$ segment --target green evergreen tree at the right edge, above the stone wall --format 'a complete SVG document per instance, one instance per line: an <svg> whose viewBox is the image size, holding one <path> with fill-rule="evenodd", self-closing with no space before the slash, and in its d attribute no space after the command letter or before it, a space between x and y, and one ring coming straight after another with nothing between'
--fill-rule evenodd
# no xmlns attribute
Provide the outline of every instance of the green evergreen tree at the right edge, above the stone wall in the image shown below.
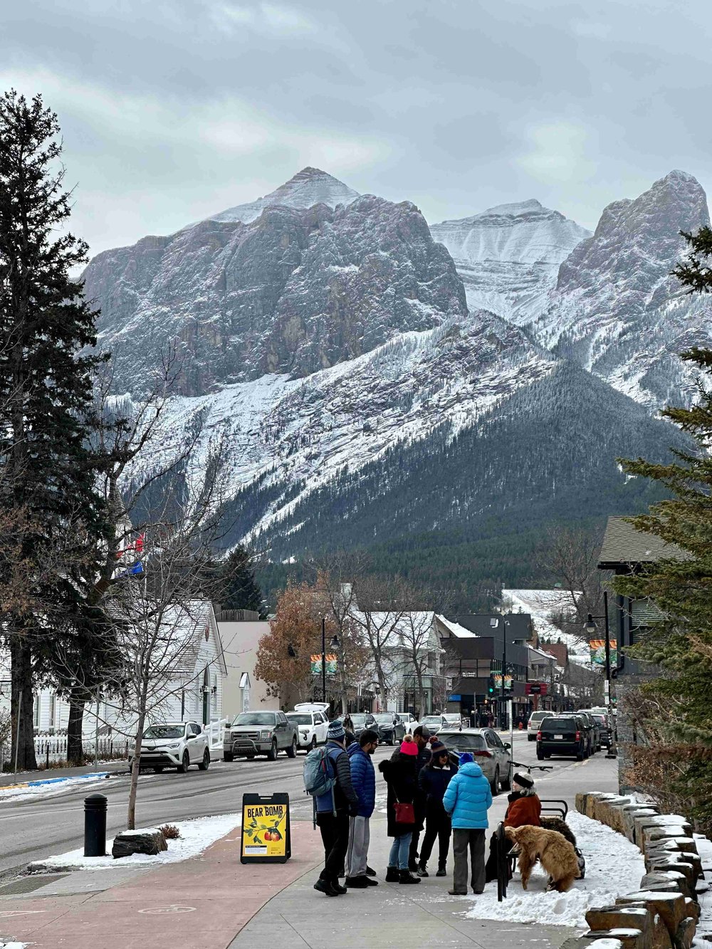
<svg viewBox="0 0 712 949"><path fill-rule="evenodd" d="M692 254L675 272L690 292L708 292L712 270L702 258L712 254L712 231L703 228L684 236ZM701 373L712 370L712 349L693 347L682 358ZM662 413L695 439L697 452L675 450L669 464L643 458L623 463L629 474L651 478L671 495L652 505L649 513L630 518L631 523L681 552L640 573L616 578L614 586L624 596L649 597L663 614L634 650L637 658L657 662L665 671L642 688L642 707L652 710L649 736L659 738L649 751L658 765L669 760L671 767L661 772L667 790L672 786L687 813L710 828L712 805L706 788L712 778L712 390L702 375L697 395L689 408ZM674 714L669 711L673 709ZM666 717L662 710L668 710ZM646 762L641 764L645 770Z"/></svg>

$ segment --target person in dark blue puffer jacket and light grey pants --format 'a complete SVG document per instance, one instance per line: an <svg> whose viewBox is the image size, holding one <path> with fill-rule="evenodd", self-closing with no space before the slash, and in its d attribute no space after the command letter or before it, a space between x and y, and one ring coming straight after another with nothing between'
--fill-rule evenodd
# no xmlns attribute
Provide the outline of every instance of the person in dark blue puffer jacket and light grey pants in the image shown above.
<svg viewBox="0 0 712 949"><path fill-rule="evenodd" d="M351 784L359 798L358 809L349 819L347 850L347 886L353 889L365 889L377 886L371 880L373 871L368 867L368 822L376 805L376 772L371 755L378 748L378 734L370 728L364 729L358 742L352 742L348 748L351 766Z"/></svg>

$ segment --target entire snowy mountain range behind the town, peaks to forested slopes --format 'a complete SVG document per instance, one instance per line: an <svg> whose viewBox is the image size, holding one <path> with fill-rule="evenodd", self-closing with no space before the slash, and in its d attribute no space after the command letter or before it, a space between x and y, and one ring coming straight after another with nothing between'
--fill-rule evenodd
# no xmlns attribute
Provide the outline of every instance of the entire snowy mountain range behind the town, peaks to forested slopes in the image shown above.
<svg viewBox="0 0 712 949"><path fill-rule="evenodd" d="M643 363L647 338L600 341L658 320L672 346L694 333L695 307L702 322L666 277L676 232L706 214L693 182L673 173L618 202L592 236L536 201L431 233L413 204L305 169L250 205L99 254L84 279L116 392L141 396L169 341L182 360L143 473L200 419L198 462L225 436L228 539L287 560L640 508L646 485L615 458L682 441L619 391L646 402L615 373L621 354ZM654 363L668 389L682 372L671 352Z"/></svg>

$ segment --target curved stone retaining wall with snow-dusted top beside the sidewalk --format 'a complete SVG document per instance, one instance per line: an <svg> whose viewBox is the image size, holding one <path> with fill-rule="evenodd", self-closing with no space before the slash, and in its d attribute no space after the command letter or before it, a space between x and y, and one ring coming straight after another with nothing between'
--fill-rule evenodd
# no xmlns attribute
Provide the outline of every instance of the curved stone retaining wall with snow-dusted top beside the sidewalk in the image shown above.
<svg viewBox="0 0 712 949"><path fill-rule="evenodd" d="M703 869L687 820L598 791L576 794L576 810L640 847L646 874L635 893L611 906L591 907L586 914L590 932L566 940L561 949L691 949Z"/></svg>

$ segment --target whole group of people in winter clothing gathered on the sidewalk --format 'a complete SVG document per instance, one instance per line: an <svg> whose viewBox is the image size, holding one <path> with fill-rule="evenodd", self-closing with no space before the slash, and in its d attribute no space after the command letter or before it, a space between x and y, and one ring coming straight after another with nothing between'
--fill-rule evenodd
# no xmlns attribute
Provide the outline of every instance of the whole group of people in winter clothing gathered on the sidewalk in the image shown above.
<svg viewBox="0 0 712 949"><path fill-rule="evenodd" d="M367 861L369 820L376 800L372 755L377 747L378 735L370 729L356 740L341 721L329 726L327 757L335 784L332 791L315 799L325 863L314 889L326 896L339 896L348 888L378 885L373 879L376 871ZM413 735L405 735L390 758L381 761L379 771L387 785L386 828L392 838L386 883L420 884L429 876L427 865L436 841L435 875L446 876L452 837L455 869L448 892L452 896L467 895L469 870L472 891L481 893L486 882L485 831L492 791L473 755L451 753L420 725ZM535 800L519 805L518 813L516 802L525 797ZM505 824L516 827L534 823L529 819L532 817L538 824L534 813L537 803L532 779L516 774ZM341 877L346 877L344 886Z"/></svg>

